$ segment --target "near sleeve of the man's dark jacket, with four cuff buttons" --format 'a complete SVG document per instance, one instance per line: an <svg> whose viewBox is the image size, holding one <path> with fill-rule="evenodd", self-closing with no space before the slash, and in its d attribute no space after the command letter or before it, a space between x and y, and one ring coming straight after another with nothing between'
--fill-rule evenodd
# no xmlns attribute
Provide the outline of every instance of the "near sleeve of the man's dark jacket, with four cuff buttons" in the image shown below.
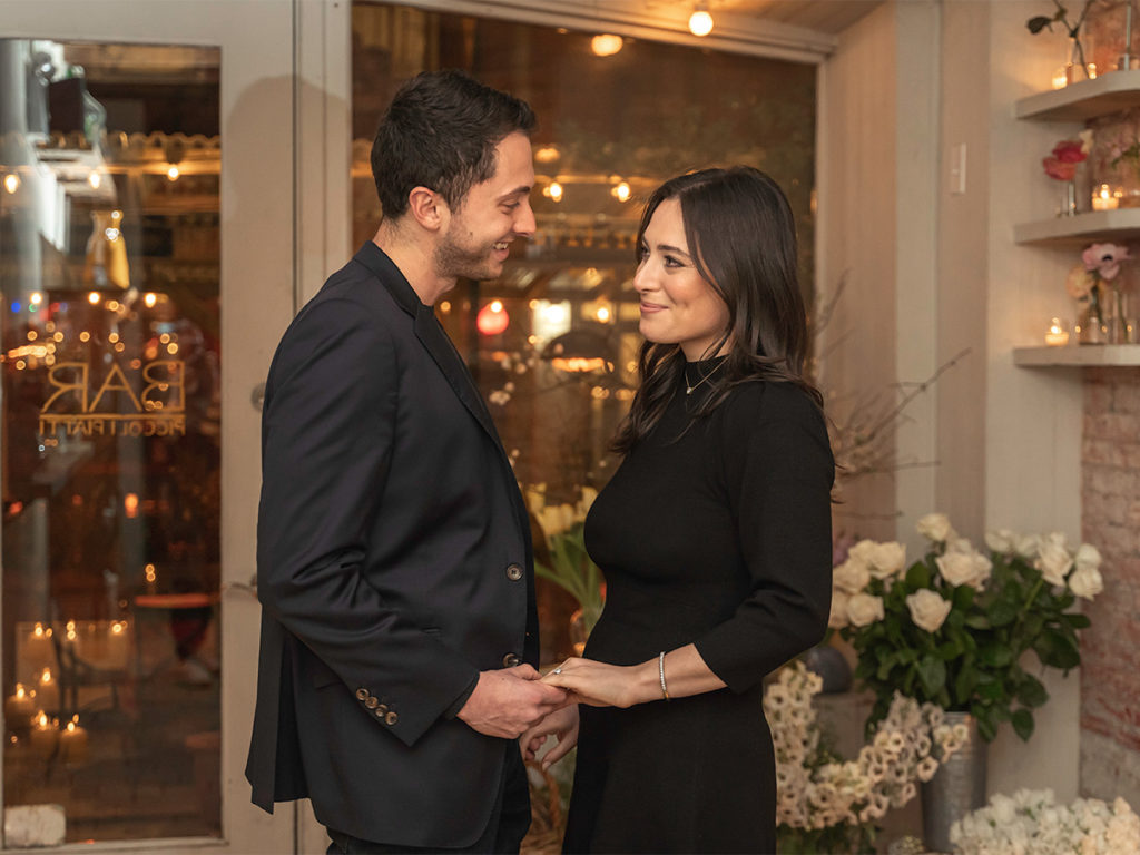
<svg viewBox="0 0 1140 855"><path fill-rule="evenodd" d="M389 331L352 301L310 304L286 333L263 414L258 595L359 700L398 710L374 720L413 744L478 669L361 572L383 513L399 370Z"/></svg>

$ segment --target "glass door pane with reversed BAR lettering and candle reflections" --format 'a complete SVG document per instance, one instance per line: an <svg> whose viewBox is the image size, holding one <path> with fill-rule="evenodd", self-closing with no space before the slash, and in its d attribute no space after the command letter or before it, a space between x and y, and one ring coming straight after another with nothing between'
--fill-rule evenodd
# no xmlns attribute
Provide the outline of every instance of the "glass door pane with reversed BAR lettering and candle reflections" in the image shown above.
<svg viewBox="0 0 1140 855"><path fill-rule="evenodd" d="M8 848L220 834L220 60L0 40Z"/></svg>

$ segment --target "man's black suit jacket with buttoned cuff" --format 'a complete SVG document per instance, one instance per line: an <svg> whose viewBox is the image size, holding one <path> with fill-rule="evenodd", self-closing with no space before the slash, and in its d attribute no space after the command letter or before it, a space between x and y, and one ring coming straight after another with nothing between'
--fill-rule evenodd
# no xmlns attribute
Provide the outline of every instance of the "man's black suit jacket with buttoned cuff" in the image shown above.
<svg viewBox="0 0 1140 855"><path fill-rule="evenodd" d="M367 243L269 369L262 603L246 776L353 837L462 847L506 742L447 716L480 670L537 665L530 527L466 367Z"/></svg>

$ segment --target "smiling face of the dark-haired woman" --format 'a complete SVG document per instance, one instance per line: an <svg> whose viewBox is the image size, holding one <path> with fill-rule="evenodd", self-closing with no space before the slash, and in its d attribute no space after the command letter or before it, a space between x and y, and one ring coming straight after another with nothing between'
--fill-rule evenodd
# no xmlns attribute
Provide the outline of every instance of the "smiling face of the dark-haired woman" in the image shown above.
<svg viewBox="0 0 1140 855"><path fill-rule="evenodd" d="M693 264L679 199L657 206L642 241L634 276L641 334L658 344L679 344L690 361L727 352L728 342L718 353L708 352L728 326L728 307Z"/></svg>

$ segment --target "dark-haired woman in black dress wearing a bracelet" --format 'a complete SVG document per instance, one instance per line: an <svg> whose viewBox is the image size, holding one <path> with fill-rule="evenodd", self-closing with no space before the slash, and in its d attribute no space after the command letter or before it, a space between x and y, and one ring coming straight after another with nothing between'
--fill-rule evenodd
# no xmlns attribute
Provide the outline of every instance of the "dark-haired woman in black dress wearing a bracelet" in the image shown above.
<svg viewBox="0 0 1140 855"><path fill-rule="evenodd" d="M638 234L641 388L586 520L606 604L544 679L581 705L524 734L578 763L564 850L771 853L763 678L817 643L833 462L791 210L755 169L667 181Z"/></svg>

